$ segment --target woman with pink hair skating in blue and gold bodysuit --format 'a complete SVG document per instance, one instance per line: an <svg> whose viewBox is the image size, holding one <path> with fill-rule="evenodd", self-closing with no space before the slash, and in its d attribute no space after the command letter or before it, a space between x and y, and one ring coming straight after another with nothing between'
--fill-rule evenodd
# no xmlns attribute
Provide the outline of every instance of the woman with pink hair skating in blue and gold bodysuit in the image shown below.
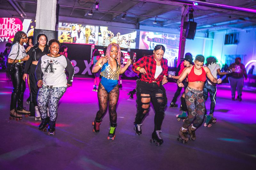
<svg viewBox="0 0 256 170"><path fill-rule="evenodd" d="M114 140L116 132L116 104L119 98L119 74L124 73L124 71L132 62L131 59L128 59L127 64L123 68L121 68L120 58L120 46L116 43L110 43L107 48L106 56L100 58L97 63L92 67L93 73L96 73L98 70L101 69L101 81L98 88L98 100L100 110L97 112L94 122L92 122L92 125L94 125L93 131L100 131L100 123L108 107L110 119L108 139L112 140Z"/></svg>

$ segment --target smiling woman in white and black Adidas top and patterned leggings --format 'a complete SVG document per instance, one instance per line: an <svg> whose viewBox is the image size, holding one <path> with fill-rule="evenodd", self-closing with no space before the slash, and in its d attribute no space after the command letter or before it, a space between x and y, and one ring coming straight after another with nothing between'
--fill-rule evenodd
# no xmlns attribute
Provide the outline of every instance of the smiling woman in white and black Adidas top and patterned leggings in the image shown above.
<svg viewBox="0 0 256 170"><path fill-rule="evenodd" d="M74 67L67 57L59 54L60 42L58 40L50 40L48 46L50 53L43 55L36 66L37 86L40 88L37 105L42 118L38 129L44 129L49 123L48 135L55 135L58 104L67 87L73 83ZM65 70L69 74L68 80ZM47 114L47 107L49 107L50 117Z"/></svg>

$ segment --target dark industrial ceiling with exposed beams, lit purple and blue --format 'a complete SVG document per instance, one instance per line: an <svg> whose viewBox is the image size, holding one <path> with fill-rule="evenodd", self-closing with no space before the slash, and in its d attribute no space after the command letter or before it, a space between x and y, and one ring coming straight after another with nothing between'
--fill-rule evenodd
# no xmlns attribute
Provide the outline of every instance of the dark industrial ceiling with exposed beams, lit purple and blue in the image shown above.
<svg viewBox="0 0 256 170"><path fill-rule="evenodd" d="M256 9L254 0L201 0L236 7ZM16 0L27 17L36 16L36 0ZM99 2L99 10L95 3ZM162 3L165 4L162 4ZM134 25L158 26L178 29L182 3L167 0L59 0L60 16L111 21ZM166 4L167 3L167 4ZM197 31L218 29L252 29L256 25L256 14L219 8L193 6ZM92 9L93 15L88 15ZM6 0L0 0L0 10L9 15L19 14ZM125 14L125 16L124 16ZM123 19L122 19L123 18ZM124 19L125 18L125 19ZM156 20L156 24L153 22Z"/></svg>

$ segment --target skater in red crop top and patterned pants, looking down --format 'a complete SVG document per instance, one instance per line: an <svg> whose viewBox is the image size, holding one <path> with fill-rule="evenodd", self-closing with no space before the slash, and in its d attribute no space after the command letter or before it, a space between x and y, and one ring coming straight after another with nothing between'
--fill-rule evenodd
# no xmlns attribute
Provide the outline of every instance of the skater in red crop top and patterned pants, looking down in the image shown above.
<svg viewBox="0 0 256 170"><path fill-rule="evenodd" d="M196 140L196 128L204 120L205 114L205 103L203 88L204 82L206 81L206 76L213 83L221 83L222 80L216 79L212 76L212 73L208 67L204 67L204 56L197 55L195 59L195 64L193 66L187 67L179 80L177 85L179 87L184 87L182 81L188 76L188 87L185 90L185 100L188 109L188 118L185 119L183 126L179 130L179 139L184 143L188 142L189 138L187 133L189 132L192 140Z"/></svg>

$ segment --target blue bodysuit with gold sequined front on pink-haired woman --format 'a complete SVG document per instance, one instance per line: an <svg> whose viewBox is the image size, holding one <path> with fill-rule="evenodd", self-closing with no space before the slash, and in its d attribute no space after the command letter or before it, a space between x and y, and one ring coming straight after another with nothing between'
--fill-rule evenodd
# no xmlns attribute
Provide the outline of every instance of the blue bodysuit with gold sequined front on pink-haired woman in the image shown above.
<svg viewBox="0 0 256 170"><path fill-rule="evenodd" d="M116 71L113 71L110 65L105 63L101 68L101 81L100 83L104 86L106 91L109 93L118 84L120 66L116 61Z"/></svg>

